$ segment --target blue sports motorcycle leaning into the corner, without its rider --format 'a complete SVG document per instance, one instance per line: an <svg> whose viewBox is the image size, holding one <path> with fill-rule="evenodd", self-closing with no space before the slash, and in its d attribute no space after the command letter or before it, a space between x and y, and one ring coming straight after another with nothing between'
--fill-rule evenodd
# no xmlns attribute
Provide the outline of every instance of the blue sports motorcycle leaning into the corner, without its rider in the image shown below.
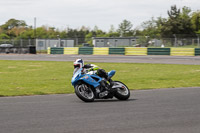
<svg viewBox="0 0 200 133"><path fill-rule="evenodd" d="M114 70L108 72L108 78L115 75ZM112 80L111 80L112 81ZM120 81L112 81L112 85L96 74L83 73L82 68L75 68L71 80L75 94L84 102L93 102L94 99L108 99L116 97L127 100L130 97L128 87Z"/></svg>

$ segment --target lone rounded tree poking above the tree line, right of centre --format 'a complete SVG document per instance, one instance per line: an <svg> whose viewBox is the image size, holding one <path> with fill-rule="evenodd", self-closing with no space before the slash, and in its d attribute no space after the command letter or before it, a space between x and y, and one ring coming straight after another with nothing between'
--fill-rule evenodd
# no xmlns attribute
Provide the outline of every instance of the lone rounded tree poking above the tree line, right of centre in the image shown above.
<svg viewBox="0 0 200 133"><path fill-rule="evenodd" d="M122 23L119 24L118 32L121 36L132 36L132 27L133 24L128 20L123 20Z"/></svg>

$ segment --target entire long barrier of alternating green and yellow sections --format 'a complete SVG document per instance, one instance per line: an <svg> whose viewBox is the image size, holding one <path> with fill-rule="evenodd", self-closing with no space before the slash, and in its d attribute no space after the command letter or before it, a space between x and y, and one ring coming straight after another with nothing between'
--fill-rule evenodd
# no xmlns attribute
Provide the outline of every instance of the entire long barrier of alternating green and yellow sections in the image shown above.
<svg viewBox="0 0 200 133"><path fill-rule="evenodd" d="M48 54L200 56L200 48L146 48L146 47L125 47L125 48L65 47L65 48L55 48L55 47L52 47L52 48L48 48Z"/></svg>

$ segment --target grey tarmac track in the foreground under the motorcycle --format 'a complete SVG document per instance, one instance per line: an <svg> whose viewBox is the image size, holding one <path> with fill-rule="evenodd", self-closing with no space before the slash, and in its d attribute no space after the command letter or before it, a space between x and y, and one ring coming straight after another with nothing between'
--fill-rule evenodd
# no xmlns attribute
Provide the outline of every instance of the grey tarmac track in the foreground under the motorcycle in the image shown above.
<svg viewBox="0 0 200 133"><path fill-rule="evenodd" d="M1 133L199 133L200 88L132 91L84 103L74 94L0 98Z"/></svg>

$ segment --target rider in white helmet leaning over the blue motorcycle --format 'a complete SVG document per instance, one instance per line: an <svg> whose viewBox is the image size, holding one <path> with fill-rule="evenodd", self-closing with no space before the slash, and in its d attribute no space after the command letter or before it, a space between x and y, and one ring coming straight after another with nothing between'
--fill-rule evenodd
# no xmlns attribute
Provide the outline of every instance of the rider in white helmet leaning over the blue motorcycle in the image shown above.
<svg viewBox="0 0 200 133"><path fill-rule="evenodd" d="M83 72L87 74L97 74L98 76L106 79L106 81L110 82L110 87L112 86L111 79L108 78L108 73L104 69L100 69L97 65L94 64L86 64L84 65L84 61L82 59L76 59L74 62L74 68L83 68ZM100 82L102 86L105 87L104 82ZM102 89L100 89L102 90Z"/></svg>

